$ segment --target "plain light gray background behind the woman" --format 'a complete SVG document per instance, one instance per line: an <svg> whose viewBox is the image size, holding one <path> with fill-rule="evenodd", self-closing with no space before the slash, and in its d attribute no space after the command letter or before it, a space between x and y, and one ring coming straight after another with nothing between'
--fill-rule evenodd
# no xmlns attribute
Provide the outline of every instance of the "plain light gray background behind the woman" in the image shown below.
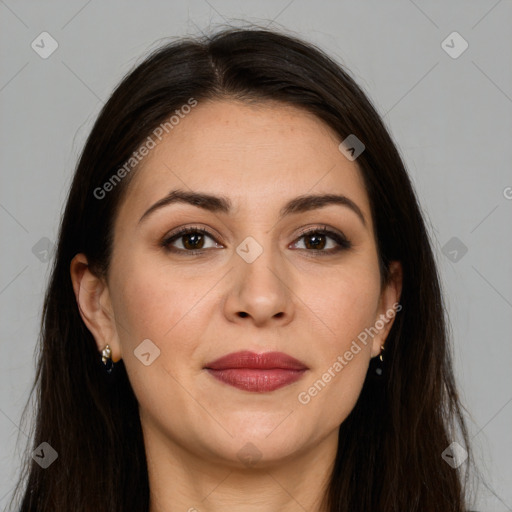
<svg viewBox="0 0 512 512"><path fill-rule="evenodd" d="M325 49L384 116L439 261L456 377L488 482L475 508L512 510L510 0L0 0L0 509L18 473L17 438L26 440L20 415L48 278L44 250L99 109L164 38L244 22L284 27ZM31 47L43 31L59 45L47 59ZM453 31L469 44L457 58L442 46Z"/></svg>

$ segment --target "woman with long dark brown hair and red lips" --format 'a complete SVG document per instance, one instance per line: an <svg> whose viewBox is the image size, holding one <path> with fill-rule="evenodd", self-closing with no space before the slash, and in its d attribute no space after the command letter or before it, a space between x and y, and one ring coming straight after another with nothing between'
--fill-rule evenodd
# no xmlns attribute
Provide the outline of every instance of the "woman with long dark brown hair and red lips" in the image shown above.
<svg viewBox="0 0 512 512"><path fill-rule="evenodd" d="M173 42L116 88L71 186L36 385L21 511L466 510L404 164L347 72L277 32Z"/></svg>

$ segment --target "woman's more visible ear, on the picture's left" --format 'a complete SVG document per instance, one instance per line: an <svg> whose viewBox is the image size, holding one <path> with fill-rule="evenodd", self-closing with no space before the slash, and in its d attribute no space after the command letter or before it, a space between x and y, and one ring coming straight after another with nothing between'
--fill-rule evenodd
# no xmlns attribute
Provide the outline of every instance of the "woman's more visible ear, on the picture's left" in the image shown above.
<svg viewBox="0 0 512 512"><path fill-rule="evenodd" d="M94 336L98 351L110 345L112 360L121 358L110 293L104 279L93 274L84 254L77 254L70 264L71 281L80 316Z"/></svg>

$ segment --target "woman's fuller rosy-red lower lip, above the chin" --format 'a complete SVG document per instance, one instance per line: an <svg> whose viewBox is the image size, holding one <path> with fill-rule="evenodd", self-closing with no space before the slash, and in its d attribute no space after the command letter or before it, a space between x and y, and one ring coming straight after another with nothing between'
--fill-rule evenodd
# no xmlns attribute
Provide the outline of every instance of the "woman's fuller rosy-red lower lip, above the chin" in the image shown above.
<svg viewBox="0 0 512 512"><path fill-rule="evenodd" d="M265 393L288 386L298 381L306 370L270 370L231 368L226 370L207 369L216 379L243 391Z"/></svg>

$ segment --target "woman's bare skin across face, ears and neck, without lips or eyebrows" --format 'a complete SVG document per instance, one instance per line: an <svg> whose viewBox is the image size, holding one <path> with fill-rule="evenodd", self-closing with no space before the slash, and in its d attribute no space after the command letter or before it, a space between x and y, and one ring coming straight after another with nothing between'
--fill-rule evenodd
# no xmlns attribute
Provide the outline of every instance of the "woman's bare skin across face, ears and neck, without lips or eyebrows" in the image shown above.
<svg viewBox="0 0 512 512"><path fill-rule="evenodd" d="M321 510L339 426L393 319L309 403L298 395L392 310L402 287L401 266L392 262L381 288L369 199L357 160L345 158L340 142L294 107L199 103L133 176L115 221L108 277L95 276L85 255L73 259L82 318L100 352L108 343L113 360L123 358L139 401L151 512ZM176 203L139 223L178 188L227 196L233 211ZM278 220L288 200L325 193L349 197L366 226L339 204ZM319 246L301 230L324 225L352 246L322 256L338 247L327 235L315 257ZM172 242L179 254L159 245L186 226L211 233L202 254L184 252L186 236ZM248 236L263 249L252 263L236 252ZM145 339L160 350L148 366L134 355ZM285 352L309 369L267 393L241 391L204 369L238 350ZM259 457L254 464L238 457L247 443Z"/></svg>

